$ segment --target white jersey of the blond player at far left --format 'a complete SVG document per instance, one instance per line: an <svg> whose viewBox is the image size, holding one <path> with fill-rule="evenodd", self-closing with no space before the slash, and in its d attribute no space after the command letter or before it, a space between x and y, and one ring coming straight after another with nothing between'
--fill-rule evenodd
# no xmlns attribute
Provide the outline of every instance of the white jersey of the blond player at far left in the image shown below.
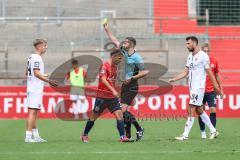
<svg viewBox="0 0 240 160"><path fill-rule="evenodd" d="M34 70L39 69L44 74L44 64L42 57L38 54L31 54L27 62L27 92L43 92L44 82L34 75Z"/></svg>

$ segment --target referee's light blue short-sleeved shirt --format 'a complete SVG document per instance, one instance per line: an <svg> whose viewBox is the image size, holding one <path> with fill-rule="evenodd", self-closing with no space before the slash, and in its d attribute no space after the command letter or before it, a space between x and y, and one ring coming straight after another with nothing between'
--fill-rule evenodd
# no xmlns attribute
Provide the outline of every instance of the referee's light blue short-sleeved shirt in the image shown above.
<svg viewBox="0 0 240 160"><path fill-rule="evenodd" d="M125 59L125 79L130 79L134 75L137 75L139 71L144 70L144 63L142 57L138 53L129 55L127 51L124 51Z"/></svg>

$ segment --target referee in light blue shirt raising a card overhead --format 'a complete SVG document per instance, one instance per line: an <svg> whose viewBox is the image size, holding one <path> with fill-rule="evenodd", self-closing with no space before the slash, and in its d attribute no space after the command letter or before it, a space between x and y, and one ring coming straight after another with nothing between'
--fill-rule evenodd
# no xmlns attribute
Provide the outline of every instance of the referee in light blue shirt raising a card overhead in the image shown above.
<svg viewBox="0 0 240 160"><path fill-rule="evenodd" d="M145 70L142 57L135 51L135 38L126 37L123 45L120 46L120 42L109 30L107 23L104 24L104 29L109 39L116 44L118 48L123 47L125 59L125 81L122 84L121 104L124 116L125 131L126 136L131 138L131 124L133 124L137 130L136 141L139 141L143 137L144 129L139 125L135 116L128 111L128 106L133 104L133 100L138 93L138 79L145 77L149 71Z"/></svg>

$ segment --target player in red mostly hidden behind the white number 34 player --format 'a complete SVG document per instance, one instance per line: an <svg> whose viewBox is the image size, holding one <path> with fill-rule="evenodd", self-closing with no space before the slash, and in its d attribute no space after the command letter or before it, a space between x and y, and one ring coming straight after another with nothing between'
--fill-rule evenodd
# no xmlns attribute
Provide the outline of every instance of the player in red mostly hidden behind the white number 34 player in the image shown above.
<svg viewBox="0 0 240 160"><path fill-rule="evenodd" d="M219 85L221 93L223 93L222 81L221 81L220 74L219 74L218 61L210 55L209 45L207 43L202 46L202 50L209 55L210 66L211 66L213 75L216 78L216 81ZM204 105L203 108L205 108L205 105L207 103L209 106L209 109L210 109L210 120L214 127L216 127L216 122L217 122L216 121L216 102L217 102L217 98L216 98L216 93L214 91L213 84L212 84L209 76L207 76L205 94L204 94L204 98L203 98L203 105ZM201 118L198 119L198 122L199 122L199 126L201 129L201 136L203 139L205 139L205 138L207 138L206 131L205 131L205 124L202 122Z"/></svg>

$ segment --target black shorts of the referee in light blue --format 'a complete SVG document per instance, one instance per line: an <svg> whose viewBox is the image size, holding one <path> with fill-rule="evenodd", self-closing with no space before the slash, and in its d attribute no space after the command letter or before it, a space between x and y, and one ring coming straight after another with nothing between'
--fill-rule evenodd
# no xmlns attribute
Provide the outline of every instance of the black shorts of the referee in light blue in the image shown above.
<svg viewBox="0 0 240 160"><path fill-rule="evenodd" d="M122 84L121 103L133 105L134 98L138 94L138 82L132 80L129 84Z"/></svg>

